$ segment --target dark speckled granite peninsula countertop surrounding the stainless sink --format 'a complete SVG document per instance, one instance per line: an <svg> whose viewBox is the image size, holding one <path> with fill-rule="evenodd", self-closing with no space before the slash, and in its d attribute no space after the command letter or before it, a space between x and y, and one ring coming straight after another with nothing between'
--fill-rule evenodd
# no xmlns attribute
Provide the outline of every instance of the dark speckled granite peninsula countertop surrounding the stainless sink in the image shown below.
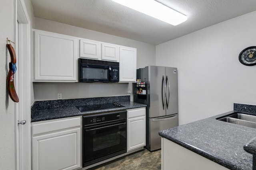
<svg viewBox="0 0 256 170"><path fill-rule="evenodd" d="M256 137L256 129L216 119L233 112L256 115L256 106L234 104L234 111L166 129L159 135L228 169L252 170L252 154L243 147ZM256 150L256 145L250 145L250 150Z"/></svg>

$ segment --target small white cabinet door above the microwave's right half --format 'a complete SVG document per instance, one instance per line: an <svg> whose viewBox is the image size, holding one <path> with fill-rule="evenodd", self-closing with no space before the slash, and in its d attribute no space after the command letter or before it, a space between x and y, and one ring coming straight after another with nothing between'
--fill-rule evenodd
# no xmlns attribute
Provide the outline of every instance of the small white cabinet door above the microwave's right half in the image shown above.
<svg viewBox="0 0 256 170"><path fill-rule="evenodd" d="M102 60L119 62L118 45L102 43L101 47Z"/></svg>

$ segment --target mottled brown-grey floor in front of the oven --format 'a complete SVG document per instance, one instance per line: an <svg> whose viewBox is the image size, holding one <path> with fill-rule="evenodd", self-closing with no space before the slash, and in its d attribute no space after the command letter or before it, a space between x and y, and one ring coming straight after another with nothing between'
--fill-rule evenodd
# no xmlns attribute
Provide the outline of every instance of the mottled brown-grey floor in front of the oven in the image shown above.
<svg viewBox="0 0 256 170"><path fill-rule="evenodd" d="M88 170L160 170L161 150L150 152L147 149L126 155Z"/></svg>

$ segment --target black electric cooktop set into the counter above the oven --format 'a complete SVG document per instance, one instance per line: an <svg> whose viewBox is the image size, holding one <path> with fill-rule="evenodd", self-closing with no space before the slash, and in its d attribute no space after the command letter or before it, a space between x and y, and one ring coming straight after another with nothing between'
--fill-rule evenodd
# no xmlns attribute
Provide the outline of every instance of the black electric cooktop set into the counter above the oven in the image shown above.
<svg viewBox="0 0 256 170"><path fill-rule="evenodd" d="M117 107L124 107L120 103L108 103L108 104L94 104L94 105L84 105L76 106L81 112L92 111L92 110L101 110L101 109L111 109Z"/></svg>

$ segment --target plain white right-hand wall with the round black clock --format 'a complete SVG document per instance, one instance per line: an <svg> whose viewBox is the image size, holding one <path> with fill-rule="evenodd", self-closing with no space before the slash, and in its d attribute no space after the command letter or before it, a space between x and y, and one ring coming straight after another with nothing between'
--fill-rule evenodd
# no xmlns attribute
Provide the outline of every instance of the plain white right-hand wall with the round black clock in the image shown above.
<svg viewBox="0 0 256 170"><path fill-rule="evenodd" d="M238 61L256 46L256 12L156 46L156 65L178 67L179 123L256 105L256 66Z"/></svg>

